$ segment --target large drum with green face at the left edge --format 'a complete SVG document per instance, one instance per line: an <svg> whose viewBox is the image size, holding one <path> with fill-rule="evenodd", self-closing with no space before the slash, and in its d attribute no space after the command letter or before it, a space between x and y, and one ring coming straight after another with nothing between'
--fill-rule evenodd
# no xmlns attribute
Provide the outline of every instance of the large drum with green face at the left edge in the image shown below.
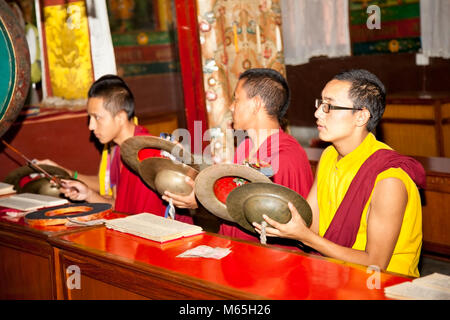
<svg viewBox="0 0 450 320"><path fill-rule="evenodd" d="M0 1L0 137L19 115L30 86L30 54L17 20Z"/></svg>

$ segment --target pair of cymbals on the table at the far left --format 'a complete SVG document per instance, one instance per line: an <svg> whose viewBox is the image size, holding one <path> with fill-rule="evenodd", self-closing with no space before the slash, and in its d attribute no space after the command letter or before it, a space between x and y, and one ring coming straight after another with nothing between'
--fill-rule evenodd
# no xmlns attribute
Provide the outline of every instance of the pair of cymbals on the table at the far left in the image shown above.
<svg viewBox="0 0 450 320"><path fill-rule="evenodd" d="M67 173L66 170L61 169L59 167L51 166L42 164L40 165L42 169L50 173L51 175L54 175L61 179L71 179L71 176L69 173ZM39 171L35 170L32 167L29 166L23 166L20 168L17 168L6 176L4 182L14 185L14 189L17 193L24 193L24 192L30 192L30 193L38 193L38 194L44 194L48 196L55 196L58 197L60 192L58 191L58 188L50 183L50 179L47 177L40 177L37 179L33 179L26 183L25 185L21 186L21 181L26 176L29 176L32 173L41 174Z"/></svg>

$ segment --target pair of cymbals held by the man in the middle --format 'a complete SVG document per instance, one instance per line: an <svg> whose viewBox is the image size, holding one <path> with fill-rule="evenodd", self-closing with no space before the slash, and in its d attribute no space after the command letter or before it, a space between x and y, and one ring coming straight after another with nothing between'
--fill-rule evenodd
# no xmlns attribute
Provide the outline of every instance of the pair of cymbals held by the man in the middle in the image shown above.
<svg viewBox="0 0 450 320"><path fill-rule="evenodd" d="M141 160L139 153L143 149L160 149L174 157L150 157ZM198 174L193 156L180 144L153 136L136 136L125 140L120 146L122 160L142 180L159 194L170 191L179 195L188 195L192 187L186 183L186 177L192 180Z"/></svg>

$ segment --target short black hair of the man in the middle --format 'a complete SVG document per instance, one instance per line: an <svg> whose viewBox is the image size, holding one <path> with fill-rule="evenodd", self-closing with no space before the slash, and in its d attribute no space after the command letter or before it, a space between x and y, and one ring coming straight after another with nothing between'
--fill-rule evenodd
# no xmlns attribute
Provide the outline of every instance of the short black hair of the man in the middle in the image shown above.
<svg viewBox="0 0 450 320"><path fill-rule="evenodd" d="M248 69L239 76L244 80L243 88L251 99L259 95L269 115L281 123L290 102L290 90L286 79L278 72L268 68Z"/></svg>

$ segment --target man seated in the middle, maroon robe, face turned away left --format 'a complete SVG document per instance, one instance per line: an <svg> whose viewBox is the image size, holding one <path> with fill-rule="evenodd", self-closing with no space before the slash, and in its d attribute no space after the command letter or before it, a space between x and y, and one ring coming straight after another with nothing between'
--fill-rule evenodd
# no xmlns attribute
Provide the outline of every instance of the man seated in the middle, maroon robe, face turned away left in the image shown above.
<svg viewBox="0 0 450 320"><path fill-rule="evenodd" d="M312 170L305 150L282 129L289 107L290 91L284 77L272 69L249 69L239 77L230 106L233 128L245 130L248 138L236 149L234 162L249 162L268 168L274 183L306 197L313 183ZM166 193L180 207L196 208L195 196L180 197ZM239 225L223 222L219 234L259 242L257 234ZM290 241L268 239L268 244L283 242L289 249L299 249Z"/></svg>

